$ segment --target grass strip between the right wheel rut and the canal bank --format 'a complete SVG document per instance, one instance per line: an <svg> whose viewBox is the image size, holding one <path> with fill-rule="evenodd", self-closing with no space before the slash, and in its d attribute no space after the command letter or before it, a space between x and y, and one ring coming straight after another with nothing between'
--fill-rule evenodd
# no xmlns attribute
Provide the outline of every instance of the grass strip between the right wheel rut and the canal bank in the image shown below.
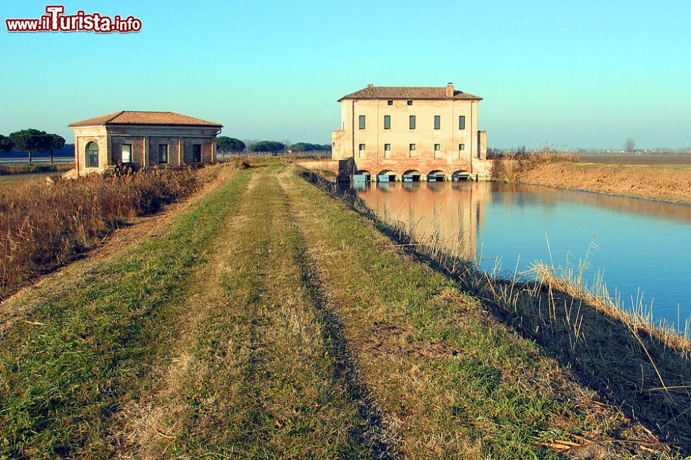
<svg viewBox="0 0 691 460"><path fill-rule="evenodd" d="M382 411L397 420L402 454L556 458L556 450L540 443L574 434L612 439L629 428L621 413L595 405L593 392L453 280L390 248L388 238L344 203L296 176L291 182L296 207L307 216L306 239L363 376ZM372 325L381 323L411 327L408 341L446 343L457 354L371 354Z"/></svg>

